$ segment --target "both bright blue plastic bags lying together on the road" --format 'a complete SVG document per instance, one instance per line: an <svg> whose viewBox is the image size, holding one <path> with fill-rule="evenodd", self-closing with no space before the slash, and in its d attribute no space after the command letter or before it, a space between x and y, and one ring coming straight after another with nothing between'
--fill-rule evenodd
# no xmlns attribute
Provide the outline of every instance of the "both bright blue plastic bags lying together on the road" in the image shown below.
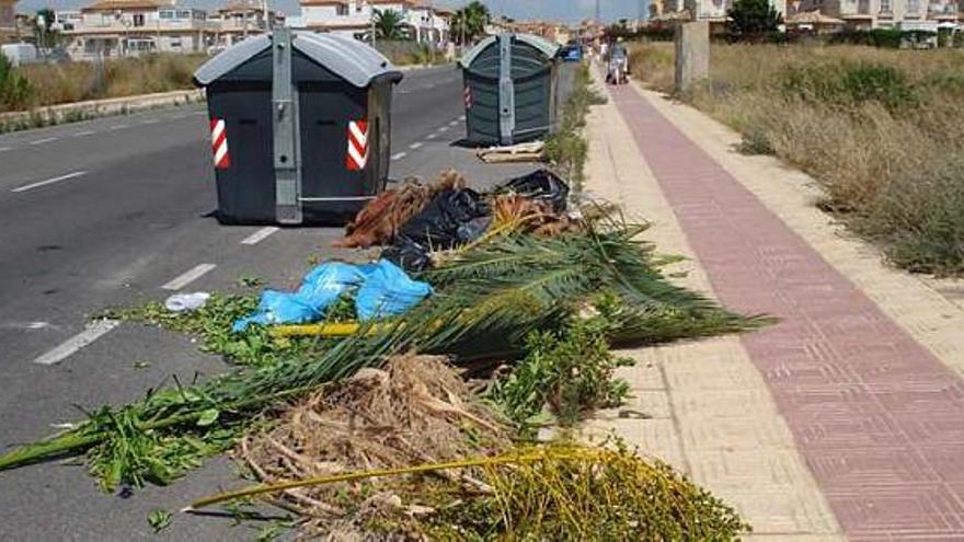
<svg viewBox="0 0 964 542"><path fill-rule="evenodd" d="M254 314L234 322L233 331L251 324L303 324L317 322L338 298L356 290L355 309L360 321L401 314L432 293L432 287L409 278L391 262L354 265L329 262L305 276L298 291L265 290Z"/></svg>

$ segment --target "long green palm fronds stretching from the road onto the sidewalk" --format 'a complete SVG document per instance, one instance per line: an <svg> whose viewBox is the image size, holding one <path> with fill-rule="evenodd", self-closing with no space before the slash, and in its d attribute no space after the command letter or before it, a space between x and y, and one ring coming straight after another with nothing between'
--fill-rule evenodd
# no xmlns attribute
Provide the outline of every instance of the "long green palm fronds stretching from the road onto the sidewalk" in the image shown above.
<svg viewBox="0 0 964 542"><path fill-rule="evenodd" d="M108 487L163 483L237 441L269 406L320 384L406 351L454 355L459 362L515 359L531 332L560 330L600 295L617 300L607 315L615 344L738 332L764 322L669 284L659 270L666 261L636 240L643 230L606 216L558 237L487 239L424 273L420 278L436 295L402 318L363 325L352 337L325 342L326 349L298 350L294 358L103 407L73 429L0 455L0 470L89 452Z"/></svg>

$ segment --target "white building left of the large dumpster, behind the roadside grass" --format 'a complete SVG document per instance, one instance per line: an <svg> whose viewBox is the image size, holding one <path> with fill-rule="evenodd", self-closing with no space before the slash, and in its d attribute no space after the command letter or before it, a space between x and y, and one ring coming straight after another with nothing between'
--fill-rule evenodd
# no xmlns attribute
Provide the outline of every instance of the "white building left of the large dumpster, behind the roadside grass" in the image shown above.
<svg viewBox="0 0 964 542"><path fill-rule="evenodd" d="M176 0L97 0L80 13L73 30L64 31L73 59L206 53L218 33L206 11L177 5Z"/></svg>

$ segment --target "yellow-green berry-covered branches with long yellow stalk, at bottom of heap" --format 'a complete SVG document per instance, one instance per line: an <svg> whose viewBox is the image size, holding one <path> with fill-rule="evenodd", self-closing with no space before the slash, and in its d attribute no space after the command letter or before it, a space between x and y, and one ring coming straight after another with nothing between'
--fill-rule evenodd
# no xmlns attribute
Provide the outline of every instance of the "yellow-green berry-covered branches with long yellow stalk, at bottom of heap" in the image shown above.
<svg viewBox="0 0 964 542"><path fill-rule="evenodd" d="M472 484L451 475L444 481L423 476L466 470ZM719 498L620 442L519 448L445 463L305 476L215 495L188 509L375 478L398 482L389 486L391 495L376 493L356 511L362 524L355 532L378 537L365 540L730 541L750 530Z"/></svg>

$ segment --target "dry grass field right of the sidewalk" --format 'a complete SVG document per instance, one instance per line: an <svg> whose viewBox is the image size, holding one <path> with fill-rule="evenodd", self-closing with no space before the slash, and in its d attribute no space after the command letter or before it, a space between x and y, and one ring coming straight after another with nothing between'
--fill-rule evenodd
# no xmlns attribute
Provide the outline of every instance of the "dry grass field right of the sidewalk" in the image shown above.
<svg viewBox="0 0 964 542"><path fill-rule="evenodd" d="M672 44L634 73L672 90ZM682 96L826 188L826 208L911 270L964 274L964 51L714 45Z"/></svg>

